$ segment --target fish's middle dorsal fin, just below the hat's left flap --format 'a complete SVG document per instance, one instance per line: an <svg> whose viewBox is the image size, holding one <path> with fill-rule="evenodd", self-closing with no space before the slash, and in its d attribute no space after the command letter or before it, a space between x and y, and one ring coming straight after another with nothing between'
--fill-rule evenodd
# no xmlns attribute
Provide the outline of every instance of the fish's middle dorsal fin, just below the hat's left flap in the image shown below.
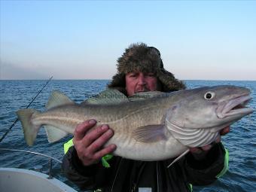
<svg viewBox="0 0 256 192"><path fill-rule="evenodd" d="M93 96L86 101L82 102L82 105L86 104L117 104L121 102L129 102L129 99L118 90L107 89L102 91L97 96Z"/></svg>

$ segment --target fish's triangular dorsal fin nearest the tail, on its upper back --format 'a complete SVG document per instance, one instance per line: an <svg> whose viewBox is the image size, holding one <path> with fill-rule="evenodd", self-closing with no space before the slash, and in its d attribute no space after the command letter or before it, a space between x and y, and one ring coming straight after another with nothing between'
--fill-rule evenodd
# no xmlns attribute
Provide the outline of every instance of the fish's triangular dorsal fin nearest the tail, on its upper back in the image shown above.
<svg viewBox="0 0 256 192"><path fill-rule="evenodd" d="M47 105L45 105L45 108L50 109L56 106L74 104L74 103L75 102L69 99L69 97L66 96L64 93L61 93L59 90L53 90L47 102Z"/></svg>

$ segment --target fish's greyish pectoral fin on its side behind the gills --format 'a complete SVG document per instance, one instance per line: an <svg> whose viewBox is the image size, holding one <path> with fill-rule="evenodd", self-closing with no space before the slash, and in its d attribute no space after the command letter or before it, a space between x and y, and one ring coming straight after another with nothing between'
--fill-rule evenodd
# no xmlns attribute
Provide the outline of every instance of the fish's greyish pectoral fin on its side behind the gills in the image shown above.
<svg viewBox="0 0 256 192"><path fill-rule="evenodd" d="M148 125L141 126L133 131L133 137L138 142L159 142L160 140L166 140L165 126L159 125Z"/></svg>

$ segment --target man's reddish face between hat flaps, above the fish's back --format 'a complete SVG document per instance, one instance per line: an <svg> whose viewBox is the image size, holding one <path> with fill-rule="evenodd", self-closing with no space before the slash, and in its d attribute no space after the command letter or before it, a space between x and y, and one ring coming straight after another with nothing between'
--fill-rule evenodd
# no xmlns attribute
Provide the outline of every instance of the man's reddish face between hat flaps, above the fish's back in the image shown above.
<svg viewBox="0 0 256 192"><path fill-rule="evenodd" d="M153 73L130 72L125 76L128 96L142 91L159 90L160 85Z"/></svg>

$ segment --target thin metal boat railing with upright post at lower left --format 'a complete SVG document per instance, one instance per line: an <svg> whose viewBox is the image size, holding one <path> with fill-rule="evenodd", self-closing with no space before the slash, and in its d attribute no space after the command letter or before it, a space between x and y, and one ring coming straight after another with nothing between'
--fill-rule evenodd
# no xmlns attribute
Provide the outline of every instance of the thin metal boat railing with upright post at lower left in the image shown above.
<svg viewBox="0 0 256 192"><path fill-rule="evenodd" d="M27 153L27 154L35 154L35 155L39 155L41 157L47 157L49 159L49 172L48 172L48 178L51 179L53 178L53 174L52 174L52 169L53 169L53 160L55 160L58 163L62 163L61 160L57 160L54 157L50 157L47 154L41 154L35 151L26 151L26 150L19 150L19 149L11 149L11 148L0 148L0 151L14 151L14 152L20 152L20 153Z"/></svg>

